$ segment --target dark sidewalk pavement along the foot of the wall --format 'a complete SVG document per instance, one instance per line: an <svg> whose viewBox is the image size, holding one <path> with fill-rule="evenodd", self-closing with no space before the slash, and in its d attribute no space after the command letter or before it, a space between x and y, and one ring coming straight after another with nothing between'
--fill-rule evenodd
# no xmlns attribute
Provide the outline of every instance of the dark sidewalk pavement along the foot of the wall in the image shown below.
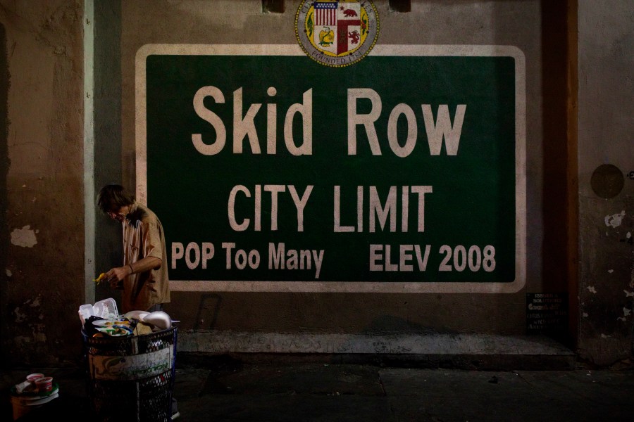
<svg viewBox="0 0 634 422"><path fill-rule="evenodd" d="M182 422L634 420L631 367L467 371L285 357L182 360L173 390ZM33 372L53 376L59 397L20 421L96 421L80 367L2 370L1 421L13 418L11 386Z"/></svg>

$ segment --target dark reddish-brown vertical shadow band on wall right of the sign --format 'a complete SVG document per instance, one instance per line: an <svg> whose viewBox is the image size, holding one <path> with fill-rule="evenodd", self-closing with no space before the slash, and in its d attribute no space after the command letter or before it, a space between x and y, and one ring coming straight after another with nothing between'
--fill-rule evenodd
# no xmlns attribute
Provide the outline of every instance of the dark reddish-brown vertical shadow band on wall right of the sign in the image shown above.
<svg viewBox="0 0 634 422"><path fill-rule="evenodd" d="M542 102L544 150L544 188L542 218L542 277L544 293L567 293L568 333L557 340L569 347L576 342L577 286L575 269L566 262L576 262L576 188L571 184L576 174L576 146L568 139L568 1L542 0Z"/></svg>

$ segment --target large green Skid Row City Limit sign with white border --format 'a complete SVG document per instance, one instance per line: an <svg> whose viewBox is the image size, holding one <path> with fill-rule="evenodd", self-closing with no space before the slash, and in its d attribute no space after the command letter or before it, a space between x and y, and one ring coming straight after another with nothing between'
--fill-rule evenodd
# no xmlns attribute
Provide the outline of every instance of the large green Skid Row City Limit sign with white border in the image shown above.
<svg viewBox="0 0 634 422"><path fill-rule="evenodd" d="M170 288L515 293L526 279L525 70L512 46L148 44L137 199Z"/></svg>

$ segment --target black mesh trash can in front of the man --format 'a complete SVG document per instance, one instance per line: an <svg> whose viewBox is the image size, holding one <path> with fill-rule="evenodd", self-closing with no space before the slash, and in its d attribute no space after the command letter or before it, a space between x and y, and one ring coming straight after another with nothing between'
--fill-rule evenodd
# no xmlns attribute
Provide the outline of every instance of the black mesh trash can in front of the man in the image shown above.
<svg viewBox="0 0 634 422"><path fill-rule="evenodd" d="M82 328L87 397L99 421L170 421L178 328L92 337Z"/></svg>

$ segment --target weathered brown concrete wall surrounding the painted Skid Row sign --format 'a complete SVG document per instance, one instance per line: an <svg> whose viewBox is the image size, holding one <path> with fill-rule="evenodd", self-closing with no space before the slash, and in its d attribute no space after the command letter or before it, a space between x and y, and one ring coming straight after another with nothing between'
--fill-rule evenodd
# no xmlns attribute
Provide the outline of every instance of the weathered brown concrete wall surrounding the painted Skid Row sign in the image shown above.
<svg viewBox="0 0 634 422"><path fill-rule="evenodd" d="M559 340L597 364L631 358L634 181L624 178L604 198L595 190L607 196L611 179L594 189L591 179L602 164L621 175L634 170L633 6L580 1L576 120L576 31L566 30L575 8L413 0L410 12L399 13L387 1L374 3L380 43L513 45L526 56L526 288L504 295L173 292L166 311L181 321L179 350L424 352L420 339L430 334L524 335L526 293L568 292L571 322ZM135 53L149 43L294 44L299 1L285 1L284 13L262 13L256 0L0 4L2 354L7 364L65 364L81 354L79 305L117 298L104 286L92 290L93 274L118 263L120 242L93 204L104 183L135 186ZM94 57L92 72L84 72L85 53Z"/></svg>

